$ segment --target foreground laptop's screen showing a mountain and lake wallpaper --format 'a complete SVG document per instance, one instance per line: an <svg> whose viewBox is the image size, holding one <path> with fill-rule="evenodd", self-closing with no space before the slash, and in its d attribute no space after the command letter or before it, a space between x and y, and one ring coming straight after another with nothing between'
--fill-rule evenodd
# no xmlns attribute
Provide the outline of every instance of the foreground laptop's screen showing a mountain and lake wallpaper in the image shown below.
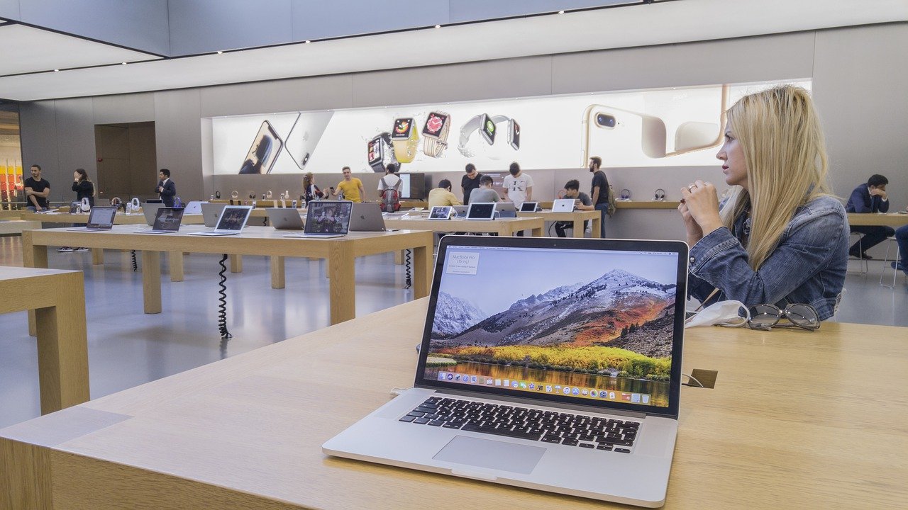
<svg viewBox="0 0 908 510"><path fill-rule="evenodd" d="M676 414L683 243L463 239L439 250L417 384Z"/></svg>

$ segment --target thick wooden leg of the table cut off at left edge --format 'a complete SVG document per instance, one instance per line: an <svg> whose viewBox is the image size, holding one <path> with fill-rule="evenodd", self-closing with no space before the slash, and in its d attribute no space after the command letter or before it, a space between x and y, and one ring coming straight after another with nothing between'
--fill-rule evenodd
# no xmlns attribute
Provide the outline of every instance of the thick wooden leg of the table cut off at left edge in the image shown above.
<svg viewBox="0 0 908 510"><path fill-rule="evenodd" d="M90 398L84 280L81 273L66 280L56 306L35 310L43 415Z"/></svg>

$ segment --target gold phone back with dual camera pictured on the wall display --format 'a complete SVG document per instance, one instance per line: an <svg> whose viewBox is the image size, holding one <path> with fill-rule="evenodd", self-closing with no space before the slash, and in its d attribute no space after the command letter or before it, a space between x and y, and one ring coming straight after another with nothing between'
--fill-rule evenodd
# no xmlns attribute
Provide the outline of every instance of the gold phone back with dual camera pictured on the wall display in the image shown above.
<svg viewBox="0 0 908 510"><path fill-rule="evenodd" d="M637 166L666 156L666 124L658 117L590 104L581 123L583 166L590 156L601 157L603 166Z"/></svg>

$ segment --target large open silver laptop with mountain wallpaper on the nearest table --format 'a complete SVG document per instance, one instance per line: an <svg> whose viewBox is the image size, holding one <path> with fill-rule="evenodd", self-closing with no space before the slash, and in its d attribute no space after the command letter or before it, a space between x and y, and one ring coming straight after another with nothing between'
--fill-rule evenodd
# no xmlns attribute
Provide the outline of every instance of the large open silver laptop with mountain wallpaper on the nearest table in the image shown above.
<svg viewBox="0 0 908 510"><path fill-rule="evenodd" d="M414 387L322 450L662 505L686 261L678 241L446 236Z"/></svg>

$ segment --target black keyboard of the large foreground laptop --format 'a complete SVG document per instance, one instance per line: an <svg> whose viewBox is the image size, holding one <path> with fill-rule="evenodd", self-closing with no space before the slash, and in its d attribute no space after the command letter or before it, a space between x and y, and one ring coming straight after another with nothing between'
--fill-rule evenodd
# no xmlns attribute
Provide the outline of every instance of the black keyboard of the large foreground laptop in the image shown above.
<svg viewBox="0 0 908 510"><path fill-rule="evenodd" d="M429 397L400 421L626 454L640 427L635 421L446 397Z"/></svg>

